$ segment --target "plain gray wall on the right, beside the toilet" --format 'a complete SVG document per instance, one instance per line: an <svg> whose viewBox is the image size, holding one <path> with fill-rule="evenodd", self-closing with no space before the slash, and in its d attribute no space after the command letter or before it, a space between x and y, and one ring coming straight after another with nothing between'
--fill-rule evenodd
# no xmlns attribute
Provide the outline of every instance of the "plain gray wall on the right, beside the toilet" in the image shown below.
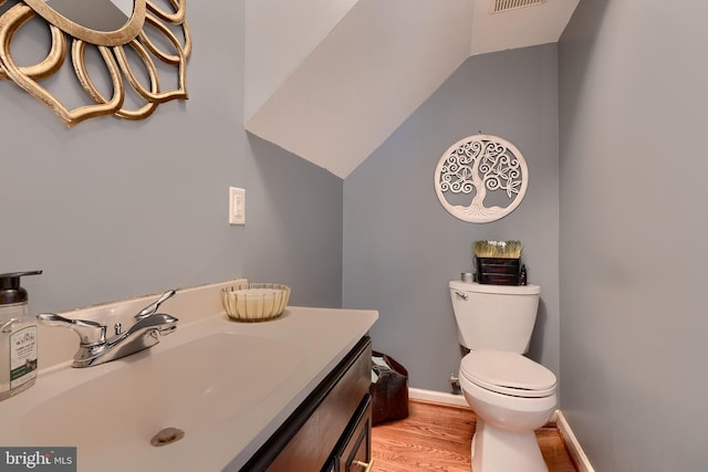
<svg viewBox="0 0 708 472"><path fill-rule="evenodd" d="M708 463L707 17L583 1L559 46L562 408L597 471Z"/></svg>

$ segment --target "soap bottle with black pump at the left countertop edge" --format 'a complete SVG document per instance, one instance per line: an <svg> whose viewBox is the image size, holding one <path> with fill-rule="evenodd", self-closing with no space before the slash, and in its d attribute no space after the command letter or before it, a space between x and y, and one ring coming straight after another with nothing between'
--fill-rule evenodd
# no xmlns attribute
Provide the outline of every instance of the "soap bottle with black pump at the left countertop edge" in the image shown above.
<svg viewBox="0 0 708 472"><path fill-rule="evenodd" d="M37 379L37 322L28 316L20 277L41 273L0 274L0 400L27 390Z"/></svg>

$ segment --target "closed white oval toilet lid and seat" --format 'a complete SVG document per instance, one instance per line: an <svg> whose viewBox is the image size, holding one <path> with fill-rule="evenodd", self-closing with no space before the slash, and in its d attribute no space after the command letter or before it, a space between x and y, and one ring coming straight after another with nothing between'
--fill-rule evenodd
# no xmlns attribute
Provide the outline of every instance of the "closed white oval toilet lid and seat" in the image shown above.
<svg viewBox="0 0 708 472"><path fill-rule="evenodd" d="M555 391L555 375L517 353L475 349L462 358L460 373L479 387L514 397L548 397Z"/></svg>

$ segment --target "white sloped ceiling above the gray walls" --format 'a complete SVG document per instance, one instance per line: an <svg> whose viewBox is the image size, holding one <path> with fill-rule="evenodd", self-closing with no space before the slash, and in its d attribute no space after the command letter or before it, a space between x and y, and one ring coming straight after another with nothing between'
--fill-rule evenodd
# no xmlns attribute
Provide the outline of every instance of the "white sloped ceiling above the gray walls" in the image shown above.
<svg viewBox="0 0 708 472"><path fill-rule="evenodd" d="M556 42L579 1L247 0L246 128L344 179L467 57Z"/></svg>

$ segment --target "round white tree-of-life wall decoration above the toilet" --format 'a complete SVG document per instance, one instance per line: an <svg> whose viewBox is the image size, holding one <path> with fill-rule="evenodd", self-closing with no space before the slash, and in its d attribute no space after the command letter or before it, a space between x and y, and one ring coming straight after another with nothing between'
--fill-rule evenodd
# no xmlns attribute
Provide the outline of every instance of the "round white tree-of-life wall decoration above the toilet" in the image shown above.
<svg viewBox="0 0 708 472"><path fill-rule="evenodd" d="M445 209L471 223L487 223L521 203L529 180L517 147L491 135L469 136L450 146L435 170L435 191Z"/></svg>

